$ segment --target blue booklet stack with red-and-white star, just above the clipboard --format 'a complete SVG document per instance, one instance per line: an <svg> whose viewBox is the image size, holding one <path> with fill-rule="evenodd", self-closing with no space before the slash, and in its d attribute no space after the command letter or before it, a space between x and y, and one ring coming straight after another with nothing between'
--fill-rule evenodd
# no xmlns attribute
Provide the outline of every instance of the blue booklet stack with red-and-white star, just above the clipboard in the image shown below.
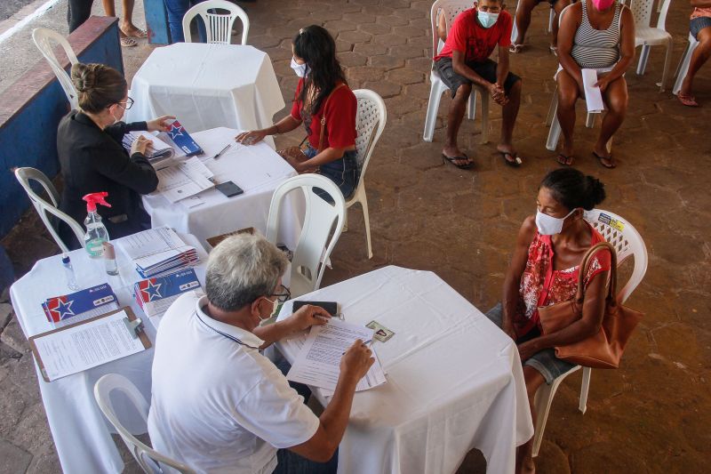
<svg viewBox="0 0 711 474"><path fill-rule="evenodd" d="M118 301L111 286L104 283L76 293L49 298L42 303L42 309L47 321L62 326L118 309Z"/></svg>

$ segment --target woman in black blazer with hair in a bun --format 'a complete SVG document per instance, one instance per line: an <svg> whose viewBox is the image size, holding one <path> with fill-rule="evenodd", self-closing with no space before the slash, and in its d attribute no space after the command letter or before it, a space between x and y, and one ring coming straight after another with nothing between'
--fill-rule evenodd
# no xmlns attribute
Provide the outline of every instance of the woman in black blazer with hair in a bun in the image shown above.
<svg viewBox="0 0 711 474"><path fill-rule="evenodd" d="M72 110L60 121L57 153L60 157L64 190L60 209L77 222L86 217L87 194L107 191L108 207L100 207L111 238L124 237L150 227L148 214L140 202L141 194L156 190L158 177L148 163L149 141L142 136L133 142L131 154L122 141L132 131L164 131L172 116L149 122L125 124L124 110L131 108L128 85L116 69L103 64L78 63L71 70L79 110ZM68 226L60 224L60 236L70 248L79 248Z"/></svg>

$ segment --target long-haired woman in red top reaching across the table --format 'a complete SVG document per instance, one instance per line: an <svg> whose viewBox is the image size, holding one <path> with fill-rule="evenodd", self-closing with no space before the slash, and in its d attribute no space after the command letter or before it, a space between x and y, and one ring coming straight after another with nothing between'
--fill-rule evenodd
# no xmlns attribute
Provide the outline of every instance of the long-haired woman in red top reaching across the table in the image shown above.
<svg viewBox="0 0 711 474"><path fill-rule="evenodd" d="M301 28L292 42L292 69L300 76L292 113L276 125L237 135L236 140L251 145L267 135L291 132L303 124L308 135L304 154L308 159L288 159L299 173L320 173L334 181L344 197L356 189L356 111L358 103L348 88L336 58L336 43L322 27ZM324 121L322 120L324 119ZM319 146L322 123L323 143Z"/></svg>

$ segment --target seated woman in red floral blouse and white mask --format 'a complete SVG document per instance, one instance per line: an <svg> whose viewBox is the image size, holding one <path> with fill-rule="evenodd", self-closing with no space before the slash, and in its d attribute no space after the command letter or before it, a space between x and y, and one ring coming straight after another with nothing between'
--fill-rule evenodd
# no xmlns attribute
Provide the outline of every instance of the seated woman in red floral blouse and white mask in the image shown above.
<svg viewBox="0 0 711 474"><path fill-rule="evenodd" d="M555 358L555 346L582 341L603 322L610 254L598 252L584 277L583 316L555 333L542 334L538 308L571 300L578 288L579 264L587 250L604 242L585 219L605 198L603 183L573 168L550 173L540 183L536 215L523 221L503 287L503 300L486 314L518 344L533 425L533 398L539 386L565 374L571 364ZM532 439L521 446L519 472L533 472Z"/></svg>

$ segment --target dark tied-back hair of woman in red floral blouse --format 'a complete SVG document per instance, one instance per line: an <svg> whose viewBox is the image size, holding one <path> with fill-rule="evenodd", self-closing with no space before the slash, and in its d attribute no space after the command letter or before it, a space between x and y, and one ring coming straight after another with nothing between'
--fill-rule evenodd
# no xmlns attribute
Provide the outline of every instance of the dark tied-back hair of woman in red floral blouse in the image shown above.
<svg viewBox="0 0 711 474"><path fill-rule="evenodd" d="M547 173L540 188L550 189L553 198L569 210L582 207L590 211L605 198L605 185L575 168L558 168Z"/></svg>

